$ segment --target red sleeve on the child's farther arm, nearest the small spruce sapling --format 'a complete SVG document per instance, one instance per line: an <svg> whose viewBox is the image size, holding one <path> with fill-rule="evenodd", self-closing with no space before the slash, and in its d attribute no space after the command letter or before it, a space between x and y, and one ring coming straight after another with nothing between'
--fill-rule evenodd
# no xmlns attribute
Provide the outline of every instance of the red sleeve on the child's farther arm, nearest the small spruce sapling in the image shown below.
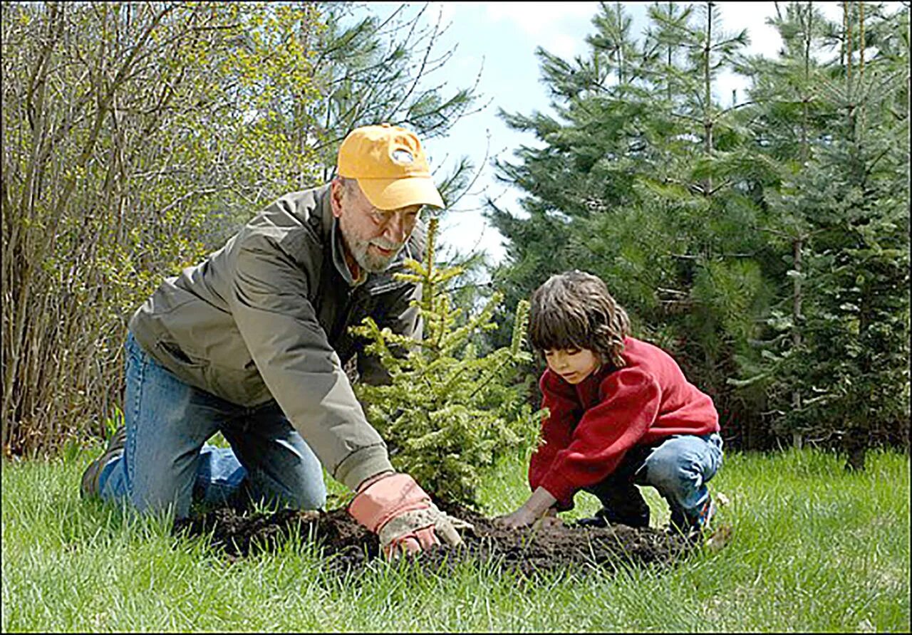
<svg viewBox="0 0 912 635"><path fill-rule="evenodd" d="M529 487L532 491L542 485L558 453L570 445L576 419L581 414L581 406L571 384L546 370L538 385L542 391L542 407L548 409L548 416L542 420L543 445L538 446L529 460ZM560 511L570 507L562 501L557 503Z"/></svg>

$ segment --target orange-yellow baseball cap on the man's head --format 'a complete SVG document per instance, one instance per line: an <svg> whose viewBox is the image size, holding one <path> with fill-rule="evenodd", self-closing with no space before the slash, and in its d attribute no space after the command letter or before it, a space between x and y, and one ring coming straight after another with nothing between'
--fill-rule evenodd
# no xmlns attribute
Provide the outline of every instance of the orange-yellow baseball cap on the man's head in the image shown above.
<svg viewBox="0 0 912 635"><path fill-rule="evenodd" d="M391 124L355 128L339 146L337 169L339 176L358 180L378 210L443 207L421 142L405 128Z"/></svg>

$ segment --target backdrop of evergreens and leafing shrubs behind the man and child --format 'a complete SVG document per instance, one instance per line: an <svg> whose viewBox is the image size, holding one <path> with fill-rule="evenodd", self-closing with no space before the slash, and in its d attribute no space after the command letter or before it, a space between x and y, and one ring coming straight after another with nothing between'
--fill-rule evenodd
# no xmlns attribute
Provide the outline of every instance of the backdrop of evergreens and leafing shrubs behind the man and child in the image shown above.
<svg viewBox="0 0 912 635"><path fill-rule="evenodd" d="M496 264L457 256L455 302L517 302L548 275L602 277L741 449L814 443L861 468L909 438L909 5L777 3L777 56L743 53L724 3L623 3L586 54L537 51L554 114L496 159ZM446 138L496 95L446 81L445 24L338 3L4 3L5 456L104 433L130 313L256 210L331 178L338 143L390 121ZM581 34L581 37L584 35ZM748 99L723 106L723 72ZM444 200L483 157L436 175ZM446 211L442 212L444 217ZM480 283L484 270L490 283ZM541 360L510 387L536 400Z"/></svg>

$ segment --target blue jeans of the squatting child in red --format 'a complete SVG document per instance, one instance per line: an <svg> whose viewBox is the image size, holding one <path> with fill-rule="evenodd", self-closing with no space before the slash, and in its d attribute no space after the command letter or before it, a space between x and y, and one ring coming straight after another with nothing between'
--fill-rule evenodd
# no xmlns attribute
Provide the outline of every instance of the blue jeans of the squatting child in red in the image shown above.
<svg viewBox="0 0 912 635"><path fill-rule="evenodd" d="M601 483L584 487L605 507L608 522L648 527L649 507L637 485L653 486L668 501L673 525L694 526L710 491L706 482L722 465L722 437L673 435L652 446L634 446Z"/></svg>

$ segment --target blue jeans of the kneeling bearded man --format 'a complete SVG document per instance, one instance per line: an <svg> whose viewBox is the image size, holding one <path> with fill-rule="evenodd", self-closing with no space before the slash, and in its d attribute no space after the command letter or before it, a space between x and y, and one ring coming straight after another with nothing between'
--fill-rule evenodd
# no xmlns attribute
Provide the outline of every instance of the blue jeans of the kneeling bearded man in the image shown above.
<svg viewBox="0 0 912 635"><path fill-rule="evenodd" d="M192 502L326 504L323 468L275 401L248 408L184 384L132 333L126 357L127 445L101 472L102 498L140 510L171 507L176 518L187 517ZM231 448L206 443L216 432Z"/></svg>

